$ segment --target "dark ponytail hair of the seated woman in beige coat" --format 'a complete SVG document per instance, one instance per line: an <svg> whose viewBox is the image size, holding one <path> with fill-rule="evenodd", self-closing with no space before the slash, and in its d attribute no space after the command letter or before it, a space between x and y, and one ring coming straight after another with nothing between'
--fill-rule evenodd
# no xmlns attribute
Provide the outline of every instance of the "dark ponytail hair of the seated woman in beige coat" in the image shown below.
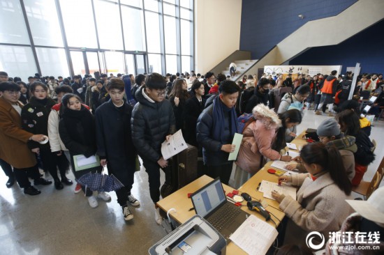
<svg viewBox="0 0 384 255"><path fill-rule="evenodd" d="M350 194L352 184L348 179L341 155L336 147L326 146L320 142L307 144L302 148L300 157L306 164L318 164L325 171L329 171L337 187L344 191L347 196Z"/></svg>

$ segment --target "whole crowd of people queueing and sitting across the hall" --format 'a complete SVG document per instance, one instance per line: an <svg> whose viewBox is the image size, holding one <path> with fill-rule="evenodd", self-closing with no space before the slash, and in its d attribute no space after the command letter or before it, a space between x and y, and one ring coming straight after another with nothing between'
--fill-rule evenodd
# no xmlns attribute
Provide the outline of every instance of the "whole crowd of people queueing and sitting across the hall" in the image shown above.
<svg viewBox="0 0 384 255"><path fill-rule="evenodd" d="M158 73L136 77L103 74L100 79L36 74L24 83L0 72L0 163L9 178L6 185L11 187L16 180L25 194L37 195L40 190L29 178L34 185L52 184L40 175L39 167L50 173L57 190L64 188L63 183L73 184L66 177L68 169L77 180L108 167L108 173L124 185L116 194L128 221L133 218L128 204L140 205L131 194L140 156L149 176L155 220L161 224L156 207L160 169L168 167L161 144L182 130L186 142L197 147L203 158L202 173L220 177L228 185L235 163L235 188L267 160L290 162L287 168L301 173L280 179L300 187L297 201L277 192L273 196L292 228L302 234L337 231L350 214L345 199L350 198L351 187L360 183L375 159L371 127L357 100L375 95L371 111L378 115L384 93L383 75L364 74L357 79L355 98L348 100L353 74L336 75L337 71L299 75L295 80L291 75L286 79L283 75L260 79L249 75L235 83L222 74L195 75L194 71L165 77ZM278 100L281 88L291 88L291 92ZM313 109L322 114L327 108L328 116L336 116L317 128L318 142L304 146L300 157L283 155L286 142L296 137L304 113ZM234 162L228 160L228 153L235 150L235 133L242 133L243 139ZM74 171L76 155L97 155L100 165ZM77 184L76 190L84 192L92 208L98 206L96 198L110 200L107 193L94 196L83 185Z"/></svg>

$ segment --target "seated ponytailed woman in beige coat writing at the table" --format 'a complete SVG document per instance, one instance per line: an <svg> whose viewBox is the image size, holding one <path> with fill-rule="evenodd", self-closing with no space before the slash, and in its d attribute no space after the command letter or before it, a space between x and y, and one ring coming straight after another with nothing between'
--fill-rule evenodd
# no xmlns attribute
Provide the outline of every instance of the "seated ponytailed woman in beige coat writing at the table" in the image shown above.
<svg viewBox="0 0 384 255"><path fill-rule="evenodd" d="M346 199L351 199L352 185L346 175L339 150L319 142L307 144L300 152L300 158L308 173L281 176L279 181L300 187L297 201L290 196L272 192L286 213L288 224L286 242L305 240L311 231L328 236L338 231L344 219L350 214ZM288 240L295 237L295 240Z"/></svg>

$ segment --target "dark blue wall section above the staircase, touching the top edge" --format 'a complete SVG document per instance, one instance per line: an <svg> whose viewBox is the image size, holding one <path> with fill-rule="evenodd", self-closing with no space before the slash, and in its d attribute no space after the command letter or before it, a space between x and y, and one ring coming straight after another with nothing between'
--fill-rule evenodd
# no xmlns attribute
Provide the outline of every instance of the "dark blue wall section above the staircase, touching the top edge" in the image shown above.
<svg viewBox="0 0 384 255"><path fill-rule="evenodd" d="M242 0L240 49L260 59L311 20L341 13L357 0ZM300 20L297 15L304 15Z"/></svg>

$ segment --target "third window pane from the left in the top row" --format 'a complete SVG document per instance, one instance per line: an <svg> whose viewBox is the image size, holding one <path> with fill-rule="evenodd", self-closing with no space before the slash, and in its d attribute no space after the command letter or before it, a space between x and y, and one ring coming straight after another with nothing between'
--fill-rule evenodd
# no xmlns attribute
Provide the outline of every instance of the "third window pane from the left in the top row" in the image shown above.
<svg viewBox="0 0 384 255"><path fill-rule="evenodd" d="M60 0L60 7L68 46L97 48L91 0Z"/></svg>

